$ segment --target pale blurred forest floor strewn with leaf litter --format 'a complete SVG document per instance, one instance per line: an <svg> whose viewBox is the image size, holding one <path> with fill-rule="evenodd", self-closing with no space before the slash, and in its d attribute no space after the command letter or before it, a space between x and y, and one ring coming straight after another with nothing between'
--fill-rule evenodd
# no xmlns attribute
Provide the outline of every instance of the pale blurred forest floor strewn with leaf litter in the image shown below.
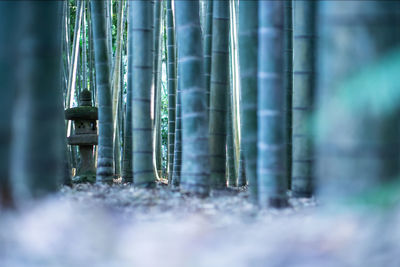
<svg viewBox="0 0 400 267"><path fill-rule="evenodd" d="M64 187L0 216L0 266L400 266L400 208L259 210L245 191Z"/></svg>

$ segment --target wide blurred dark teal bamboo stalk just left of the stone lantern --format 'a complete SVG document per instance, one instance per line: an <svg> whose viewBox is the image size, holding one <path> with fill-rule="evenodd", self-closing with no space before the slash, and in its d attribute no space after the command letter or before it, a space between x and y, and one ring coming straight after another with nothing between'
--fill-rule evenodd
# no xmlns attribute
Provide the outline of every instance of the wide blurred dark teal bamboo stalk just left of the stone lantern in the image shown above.
<svg viewBox="0 0 400 267"><path fill-rule="evenodd" d="M18 38L11 39L10 45L17 48L10 51L17 51L20 60L10 78L17 79L19 91L10 166L14 196L19 200L55 192L64 177L60 4L16 4ZM34 45L19 45L28 43Z"/></svg>

